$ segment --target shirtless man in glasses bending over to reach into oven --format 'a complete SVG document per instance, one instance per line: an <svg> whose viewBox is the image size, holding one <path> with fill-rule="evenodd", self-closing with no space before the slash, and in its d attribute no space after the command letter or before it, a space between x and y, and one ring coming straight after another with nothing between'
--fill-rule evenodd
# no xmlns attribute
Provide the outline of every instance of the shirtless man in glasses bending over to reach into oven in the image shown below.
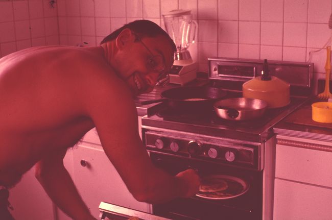
<svg viewBox="0 0 332 220"><path fill-rule="evenodd" d="M138 134L133 96L150 92L165 76L174 51L167 33L140 20L101 46L32 47L1 58L0 187L13 187L36 164L36 178L58 207L73 219L94 219L63 157L96 127L136 200L162 203L197 193L194 170L173 177L156 168Z"/></svg>

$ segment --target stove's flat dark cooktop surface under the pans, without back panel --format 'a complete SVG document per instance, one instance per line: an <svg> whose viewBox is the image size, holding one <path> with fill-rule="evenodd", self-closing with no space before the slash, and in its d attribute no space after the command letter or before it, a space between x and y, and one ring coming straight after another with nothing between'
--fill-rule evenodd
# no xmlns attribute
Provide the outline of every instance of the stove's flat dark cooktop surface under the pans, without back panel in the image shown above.
<svg viewBox="0 0 332 220"><path fill-rule="evenodd" d="M306 102L302 97L292 97L286 107L267 109L262 117L252 120L227 120L217 116L214 110L190 113L181 110L160 110L142 118L142 127L157 127L182 132L199 133L215 137L262 142L273 134L272 127Z"/></svg>

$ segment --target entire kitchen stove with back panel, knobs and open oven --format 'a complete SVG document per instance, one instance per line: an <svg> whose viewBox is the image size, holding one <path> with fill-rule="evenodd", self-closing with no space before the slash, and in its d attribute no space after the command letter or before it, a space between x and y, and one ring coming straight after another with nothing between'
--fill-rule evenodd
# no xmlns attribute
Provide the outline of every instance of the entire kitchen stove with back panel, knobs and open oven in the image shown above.
<svg viewBox="0 0 332 220"><path fill-rule="evenodd" d="M259 76L262 60L211 58L207 84L241 97L242 84ZM257 119L219 118L214 110L169 109L142 118L143 141L153 163L172 175L193 167L201 178L241 180L245 191L211 198L196 195L153 205L153 214L170 219L272 219L275 134L272 127L311 94L313 64L270 61L270 74L291 85L288 106L267 109Z"/></svg>

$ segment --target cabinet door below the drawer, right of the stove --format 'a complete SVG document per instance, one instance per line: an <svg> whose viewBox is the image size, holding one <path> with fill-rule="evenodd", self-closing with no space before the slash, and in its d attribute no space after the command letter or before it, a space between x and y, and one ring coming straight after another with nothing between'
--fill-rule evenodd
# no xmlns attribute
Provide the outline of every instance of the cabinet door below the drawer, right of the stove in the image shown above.
<svg viewBox="0 0 332 220"><path fill-rule="evenodd" d="M274 220L332 219L332 189L275 179Z"/></svg>

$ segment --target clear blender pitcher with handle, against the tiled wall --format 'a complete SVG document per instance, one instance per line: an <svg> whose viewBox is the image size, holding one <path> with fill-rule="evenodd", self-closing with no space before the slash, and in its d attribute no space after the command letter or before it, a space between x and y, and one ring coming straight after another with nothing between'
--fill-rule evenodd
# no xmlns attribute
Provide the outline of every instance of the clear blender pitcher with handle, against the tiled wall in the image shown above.
<svg viewBox="0 0 332 220"><path fill-rule="evenodd" d="M162 16L165 29L177 48L177 52L174 54L174 61L189 60L189 62L192 62L187 48L195 42L197 22L192 19L191 10L172 10Z"/></svg>

